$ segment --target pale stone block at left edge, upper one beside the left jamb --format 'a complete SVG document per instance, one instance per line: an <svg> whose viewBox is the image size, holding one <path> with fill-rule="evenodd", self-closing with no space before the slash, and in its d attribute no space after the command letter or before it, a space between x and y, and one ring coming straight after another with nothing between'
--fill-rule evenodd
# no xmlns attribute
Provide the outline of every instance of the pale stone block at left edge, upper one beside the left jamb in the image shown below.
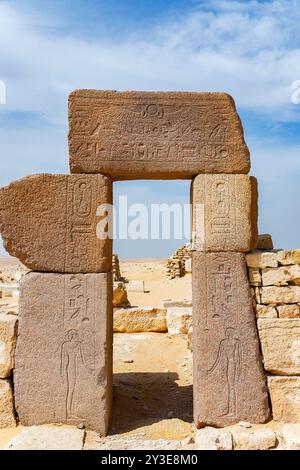
<svg viewBox="0 0 300 470"><path fill-rule="evenodd" d="M17 319L0 313L0 378L5 379L14 367Z"/></svg>

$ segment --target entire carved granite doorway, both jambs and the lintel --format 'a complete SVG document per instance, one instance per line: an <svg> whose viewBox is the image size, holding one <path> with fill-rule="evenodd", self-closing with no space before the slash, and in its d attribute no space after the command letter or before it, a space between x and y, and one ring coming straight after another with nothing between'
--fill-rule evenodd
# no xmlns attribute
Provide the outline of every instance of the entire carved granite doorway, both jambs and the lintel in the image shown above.
<svg viewBox="0 0 300 470"><path fill-rule="evenodd" d="M194 420L270 416L245 254L257 244L257 184L230 96L78 90L69 99L71 175L0 192L20 287L13 386L23 425L84 425L112 413L112 241L96 209L126 179L192 180Z"/></svg>

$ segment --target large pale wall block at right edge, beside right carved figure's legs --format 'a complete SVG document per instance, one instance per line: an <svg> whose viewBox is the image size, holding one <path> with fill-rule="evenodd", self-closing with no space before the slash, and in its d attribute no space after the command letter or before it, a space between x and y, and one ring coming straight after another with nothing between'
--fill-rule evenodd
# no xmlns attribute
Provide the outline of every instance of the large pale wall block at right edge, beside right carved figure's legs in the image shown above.
<svg viewBox="0 0 300 470"><path fill-rule="evenodd" d="M257 321L264 367L279 375L300 375L300 319Z"/></svg>

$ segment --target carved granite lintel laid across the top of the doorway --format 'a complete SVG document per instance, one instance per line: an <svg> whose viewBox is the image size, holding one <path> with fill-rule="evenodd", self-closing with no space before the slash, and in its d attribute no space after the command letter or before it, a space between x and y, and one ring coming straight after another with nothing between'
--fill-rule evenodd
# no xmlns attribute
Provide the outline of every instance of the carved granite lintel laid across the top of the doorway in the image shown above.
<svg viewBox="0 0 300 470"><path fill-rule="evenodd" d="M77 90L69 124L72 173L172 179L250 169L241 121L225 93Z"/></svg>

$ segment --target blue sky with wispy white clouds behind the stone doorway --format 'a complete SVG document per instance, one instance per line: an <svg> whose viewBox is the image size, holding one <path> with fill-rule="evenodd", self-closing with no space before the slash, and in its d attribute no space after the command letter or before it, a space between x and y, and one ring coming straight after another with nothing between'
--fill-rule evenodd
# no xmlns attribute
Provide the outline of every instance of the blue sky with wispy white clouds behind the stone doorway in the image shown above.
<svg viewBox="0 0 300 470"><path fill-rule="evenodd" d="M73 89L226 91L259 180L260 232L300 248L299 24L298 0L0 0L0 185L69 171ZM115 196L187 203L188 186L117 183ZM160 257L178 244L126 241L115 251Z"/></svg>

